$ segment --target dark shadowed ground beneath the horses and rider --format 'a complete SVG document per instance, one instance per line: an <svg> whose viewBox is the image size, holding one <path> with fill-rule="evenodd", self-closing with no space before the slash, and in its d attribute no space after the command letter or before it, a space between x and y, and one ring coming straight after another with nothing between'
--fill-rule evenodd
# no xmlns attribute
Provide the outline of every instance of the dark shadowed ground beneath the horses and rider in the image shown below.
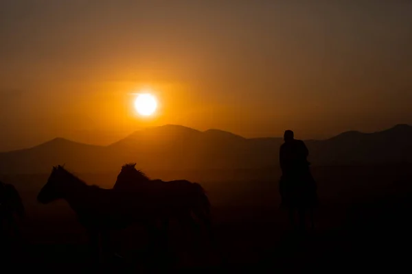
<svg viewBox="0 0 412 274"><path fill-rule="evenodd" d="M277 171L242 171L240 177L240 172L233 172L236 174L220 182L187 175L208 192L215 245L203 243L201 251L194 249L188 245L190 240L185 240L188 236L172 225L168 253L150 253L144 230L130 227L113 238L124 258L113 260L101 271L410 272L411 167L323 167L312 171L321 199L313 232L297 235L288 230L286 214L279 210ZM105 187L113 184L115 176L80 175L89 184ZM22 240L3 250L8 255L2 256L5 263L14 271L90 272L86 234L67 204L43 206L36 202L47 175L0 179L16 185L27 210L26 219L19 222Z"/></svg>

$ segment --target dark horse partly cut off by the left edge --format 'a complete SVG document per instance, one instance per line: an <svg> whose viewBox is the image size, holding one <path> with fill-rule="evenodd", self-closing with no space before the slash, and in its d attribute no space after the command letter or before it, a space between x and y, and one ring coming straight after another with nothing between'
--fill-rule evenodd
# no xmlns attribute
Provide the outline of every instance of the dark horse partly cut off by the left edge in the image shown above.
<svg viewBox="0 0 412 274"><path fill-rule="evenodd" d="M23 202L16 188L12 184L0 182L0 236L19 235L19 229L14 221L14 216L23 218L24 213Z"/></svg>

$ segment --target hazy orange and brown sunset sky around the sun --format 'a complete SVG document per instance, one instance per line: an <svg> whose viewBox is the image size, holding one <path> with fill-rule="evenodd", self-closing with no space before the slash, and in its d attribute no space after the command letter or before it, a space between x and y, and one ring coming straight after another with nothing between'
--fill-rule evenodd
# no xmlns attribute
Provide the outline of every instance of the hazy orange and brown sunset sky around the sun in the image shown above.
<svg viewBox="0 0 412 274"><path fill-rule="evenodd" d="M326 138L412 123L412 1L0 1L0 150L168 123ZM150 86L156 117L133 112Z"/></svg>

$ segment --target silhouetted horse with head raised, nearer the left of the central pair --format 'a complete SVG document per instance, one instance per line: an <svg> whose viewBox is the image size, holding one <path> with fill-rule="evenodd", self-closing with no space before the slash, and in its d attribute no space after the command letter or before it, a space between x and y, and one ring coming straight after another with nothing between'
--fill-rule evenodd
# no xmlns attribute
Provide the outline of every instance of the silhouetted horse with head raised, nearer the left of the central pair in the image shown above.
<svg viewBox="0 0 412 274"><path fill-rule="evenodd" d="M154 216L169 214L168 208L153 203L153 198L144 192L121 192L89 186L60 165L53 167L37 199L43 204L57 199L65 199L69 203L87 229L94 249L93 256L97 256L97 260L100 251L104 256L110 255L106 253L106 248L111 230L124 229L133 223L146 225Z"/></svg>

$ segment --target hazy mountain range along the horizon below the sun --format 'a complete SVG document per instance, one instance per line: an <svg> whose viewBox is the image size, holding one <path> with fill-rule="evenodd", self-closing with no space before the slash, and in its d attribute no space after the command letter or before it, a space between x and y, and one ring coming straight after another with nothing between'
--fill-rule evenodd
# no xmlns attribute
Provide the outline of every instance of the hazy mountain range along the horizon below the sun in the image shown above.
<svg viewBox="0 0 412 274"><path fill-rule="evenodd" d="M375 133L344 132L327 140L307 140L314 165L412 163L412 127L396 125ZM278 164L282 138L243 138L181 125L139 130L106 147L55 138L30 149L0 153L0 173L48 173L66 164L76 172L119 171L126 162L141 169L260 169Z"/></svg>

